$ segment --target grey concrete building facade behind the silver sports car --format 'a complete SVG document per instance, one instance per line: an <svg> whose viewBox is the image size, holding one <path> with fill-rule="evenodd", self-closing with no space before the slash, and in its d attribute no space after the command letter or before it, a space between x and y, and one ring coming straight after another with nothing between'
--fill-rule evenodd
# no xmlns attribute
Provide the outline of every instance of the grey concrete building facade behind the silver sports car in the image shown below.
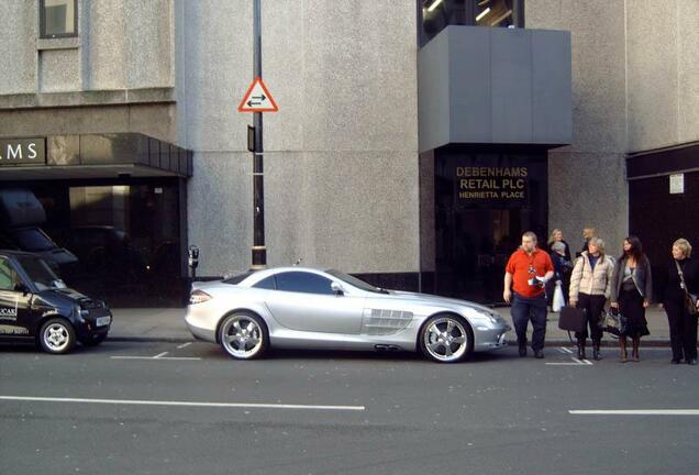
<svg viewBox="0 0 699 475"><path fill-rule="evenodd" d="M592 225L613 253L630 231L643 238L630 229L626 163L699 141L699 4L490 2L484 14L452 0L262 0L263 77L279 104L264 117L268 265L301 259L496 302L484 281L501 280L498 252L522 227L559 228L577 247ZM75 34L45 35L42 12L71 5ZM175 259L168 272L184 276L191 244L200 276L247 269L252 114L235 108L253 79L253 2L2 0L0 18L11 19L0 32L0 139L47 144L43 167L2 166L0 186L33 190L57 217L49 234L125 228L148 272ZM429 87L440 77L446 95ZM450 167L464 163L530 167L526 203L441 208ZM71 205L85 194L101 198ZM489 245L500 250L477 248L473 230L496 221ZM443 285L454 279L468 284Z"/></svg>

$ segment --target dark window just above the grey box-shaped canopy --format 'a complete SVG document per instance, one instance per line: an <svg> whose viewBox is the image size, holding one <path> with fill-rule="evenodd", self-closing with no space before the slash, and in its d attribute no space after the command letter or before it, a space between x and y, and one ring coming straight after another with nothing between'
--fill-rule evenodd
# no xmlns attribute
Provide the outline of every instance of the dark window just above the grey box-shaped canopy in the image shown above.
<svg viewBox="0 0 699 475"><path fill-rule="evenodd" d="M418 0L420 45L448 25L524 27L524 0Z"/></svg>

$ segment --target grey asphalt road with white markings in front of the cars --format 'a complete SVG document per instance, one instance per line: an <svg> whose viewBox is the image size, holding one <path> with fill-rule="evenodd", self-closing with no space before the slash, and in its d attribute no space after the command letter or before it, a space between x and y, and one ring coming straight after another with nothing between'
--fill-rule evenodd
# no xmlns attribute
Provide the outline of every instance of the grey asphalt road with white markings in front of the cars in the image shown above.
<svg viewBox="0 0 699 475"><path fill-rule="evenodd" d="M2 474L697 473L699 369L107 342L0 346ZM36 399L40 398L40 399ZM658 410L690 410L661 413ZM650 410L652 413L572 413Z"/></svg>

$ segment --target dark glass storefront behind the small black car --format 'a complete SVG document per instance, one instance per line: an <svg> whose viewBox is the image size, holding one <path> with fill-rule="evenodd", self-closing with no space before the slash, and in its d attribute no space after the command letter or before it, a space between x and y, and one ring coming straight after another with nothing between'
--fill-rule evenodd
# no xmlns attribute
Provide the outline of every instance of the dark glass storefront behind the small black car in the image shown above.
<svg viewBox="0 0 699 475"><path fill-rule="evenodd" d="M78 263L71 287L111 306L179 306L184 251L178 178L43 181L25 186L46 210L43 230Z"/></svg>

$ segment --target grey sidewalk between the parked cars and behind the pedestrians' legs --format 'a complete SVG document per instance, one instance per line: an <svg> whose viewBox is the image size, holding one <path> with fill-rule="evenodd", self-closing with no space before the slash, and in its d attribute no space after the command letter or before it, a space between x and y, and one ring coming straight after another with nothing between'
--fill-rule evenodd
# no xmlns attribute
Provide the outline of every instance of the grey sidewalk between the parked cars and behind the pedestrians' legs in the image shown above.
<svg viewBox="0 0 699 475"><path fill-rule="evenodd" d="M496 309L512 325L509 308ZM109 332L112 341L168 341L188 342L193 336L185 324L186 308L115 308L112 309L114 320ZM641 339L642 345L667 346L669 344L669 329L664 311L652 307L646 310L648 330L651 334ZM531 334L531 325L529 327ZM517 340L514 330L509 333L510 343ZM575 339L575 336L574 336ZM546 327L546 342L548 344L570 344L568 332L558 329L558 314L548 313ZM617 340L604 334L603 345L617 345Z"/></svg>

